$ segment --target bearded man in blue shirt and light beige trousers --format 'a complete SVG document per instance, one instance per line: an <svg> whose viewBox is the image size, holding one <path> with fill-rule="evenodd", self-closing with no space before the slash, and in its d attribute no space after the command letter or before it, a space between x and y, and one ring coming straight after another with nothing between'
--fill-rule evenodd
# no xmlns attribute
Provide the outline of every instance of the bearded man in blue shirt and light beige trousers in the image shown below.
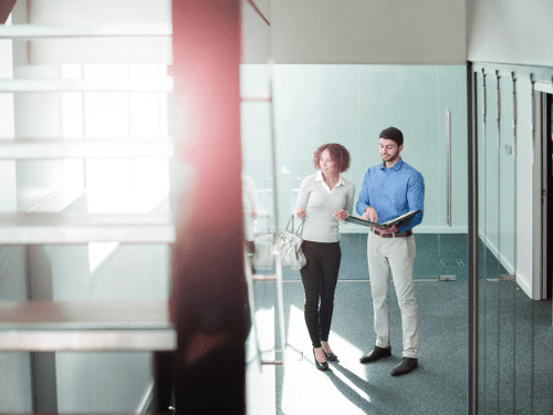
<svg viewBox="0 0 553 415"><path fill-rule="evenodd" d="M424 210L422 175L405 163L404 135L395 127L380 133L383 163L371 167L363 179L356 205L362 219L383 224L418 209ZM392 355L388 325L388 270L392 271L403 326L403 359L392 371L404 375L418 366L418 313L413 283L415 237L411 229L422 221L422 212L387 229L371 227L367 238L368 272L373 293L376 344L361 363L376 362Z"/></svg>

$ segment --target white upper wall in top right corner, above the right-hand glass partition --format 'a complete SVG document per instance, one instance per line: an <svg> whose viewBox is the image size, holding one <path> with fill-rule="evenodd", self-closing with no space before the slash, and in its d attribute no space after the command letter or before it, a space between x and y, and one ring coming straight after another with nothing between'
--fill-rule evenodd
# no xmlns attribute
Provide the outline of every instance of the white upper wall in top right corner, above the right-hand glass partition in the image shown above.
<svg viewBox="0 0 553 415"><path fill-rule="evenodd" d="M467 0L467 59L553 66L551 0Z"/></svg>

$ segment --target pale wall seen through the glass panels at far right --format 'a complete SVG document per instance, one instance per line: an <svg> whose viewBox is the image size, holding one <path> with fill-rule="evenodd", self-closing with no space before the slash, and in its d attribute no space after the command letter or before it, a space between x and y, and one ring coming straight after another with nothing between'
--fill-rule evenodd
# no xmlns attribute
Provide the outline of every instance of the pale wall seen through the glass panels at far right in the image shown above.
<svg viewBox="0 0 553 415"><path fill-rule="evenodd" d="M478 141L479 141L479 232L487 247L501 258L507 272L517 273L517 282L532 299L541 299L540 278L535 273L533 253L541 249L534 243L535 232L540 228L532 227L534 211L534 176L532 141L532 85L530 79L517 73L517 152L504 154L504 145L514 147L513 133L513 82L509 72L503 72L501 86L501 194L498 194L498 124L497 124L497 80L493 64L487 64L487 154L483 153L483 115L482 115L482 76L478 83ZM538 133L539 134L539 133ZM514 155L517 158L514 159ZM513 168L517 163L517 177ZM486 181L484 181L486 168ZM515 181L517 180L517 181ZM517 186L517 197L514 187ZM486 203L486 206L484 206ZM514 204L517 204L517 250L514 247ZM500 225L501 222L501 225ZM515 258L514 258L515 257ZM514 262L517 259L517 263ZM517 266L517 267L514 267ZM488 268L483 268L481 272ZM494 277L493 277L494 278Z"/></svg>

